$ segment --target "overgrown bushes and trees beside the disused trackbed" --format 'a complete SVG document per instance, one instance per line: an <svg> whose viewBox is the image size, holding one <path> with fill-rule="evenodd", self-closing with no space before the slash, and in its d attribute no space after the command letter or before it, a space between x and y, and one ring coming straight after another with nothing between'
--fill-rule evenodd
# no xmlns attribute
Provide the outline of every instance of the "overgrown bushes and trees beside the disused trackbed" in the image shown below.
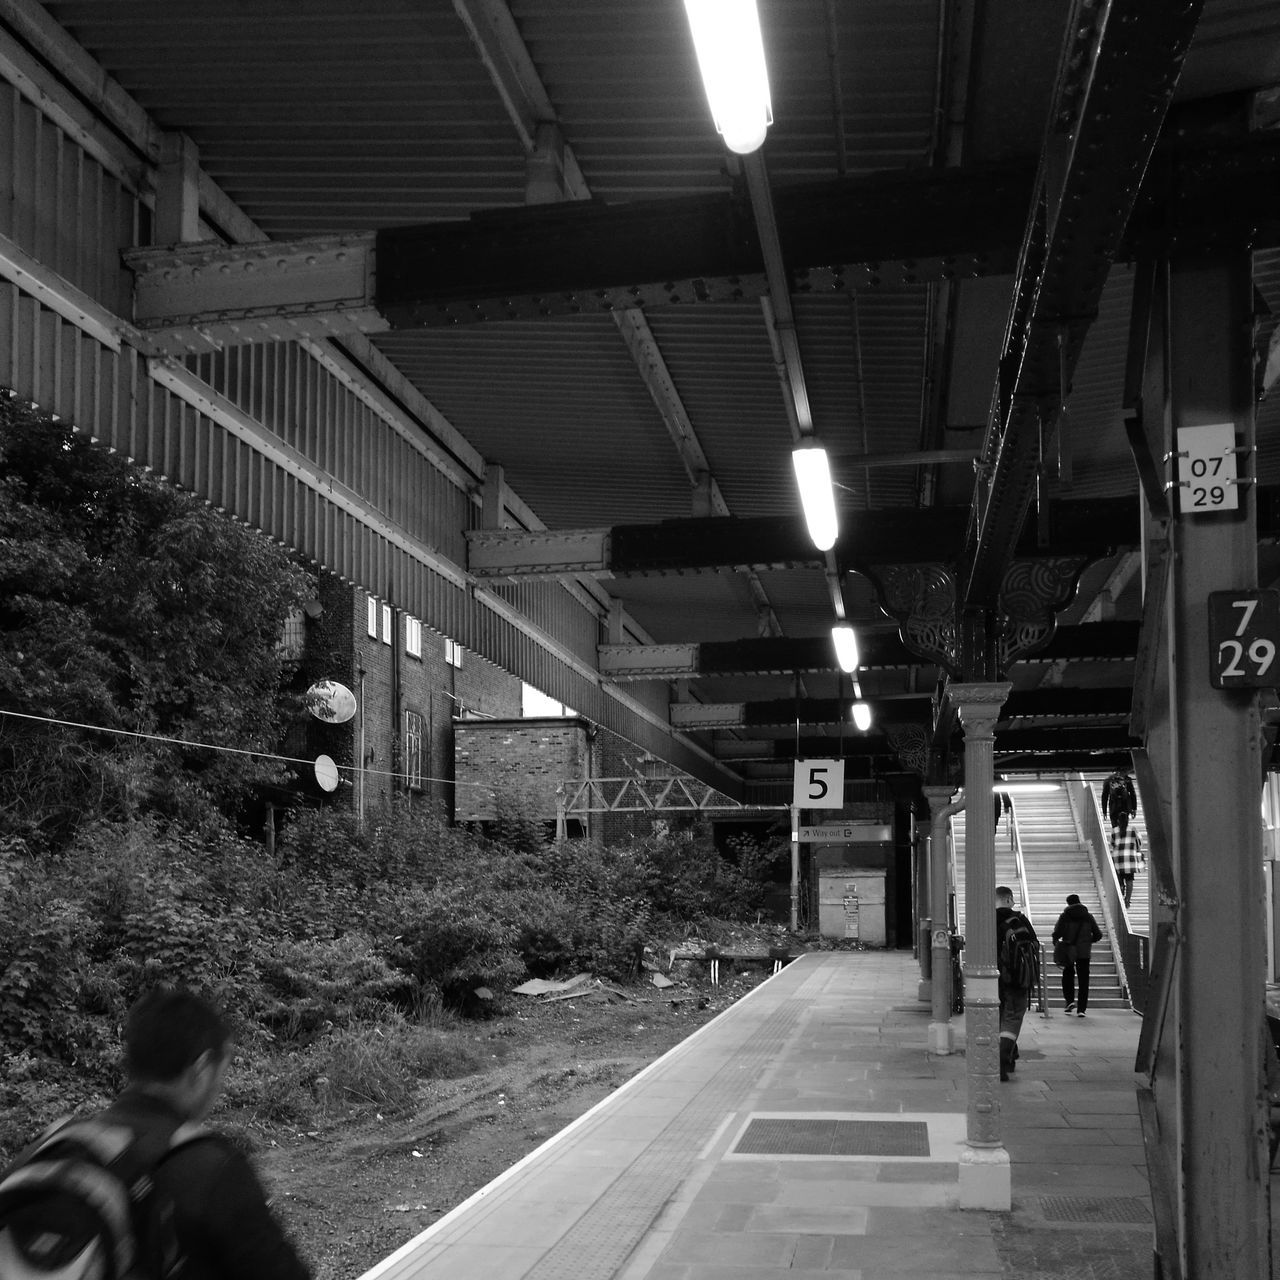
<svg viewBox="0 0 1280 1280"><path fill-rule="evenodd" d="M271 750L306 586L266 539L0 398L0 712L20 713L0 714L0 1162L119 1087L124 1012L160 980L233 1016L239 1110L293 1123L475 1070L460 1019L530 975L625 982L646 941L755 915L771 851L547 842L518 795L488 833L333 806L273 852L247 838L274 768L166 739Z"/></svg>

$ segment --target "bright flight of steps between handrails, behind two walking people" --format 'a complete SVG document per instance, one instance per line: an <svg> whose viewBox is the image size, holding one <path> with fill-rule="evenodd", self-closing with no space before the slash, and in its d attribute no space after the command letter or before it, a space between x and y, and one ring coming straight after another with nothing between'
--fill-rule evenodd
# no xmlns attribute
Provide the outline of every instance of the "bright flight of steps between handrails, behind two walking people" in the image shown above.
<svg viewBox="0 0 1280 1280"><path fill-rule="evenodd" d="M1120 991L1093 865L1080 844L1066 791L1015 796L1014 815L1027 868L1029 905L1024 910L1046 947L1050 1009L1060 1009L1062 1002L1062 970L1052 963L1052 940L1053 925L1066 908L1068 893L1080 895L1080 901L1102 929L1102 941L1093 943L1089 957L1089 1007L1128 1009L1129 1001Z"/></svg>

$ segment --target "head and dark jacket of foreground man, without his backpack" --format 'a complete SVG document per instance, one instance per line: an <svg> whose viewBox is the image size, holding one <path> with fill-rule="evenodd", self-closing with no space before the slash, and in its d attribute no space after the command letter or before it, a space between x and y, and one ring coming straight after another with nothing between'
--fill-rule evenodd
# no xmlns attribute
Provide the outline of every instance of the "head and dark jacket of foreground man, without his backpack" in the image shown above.
<svg viewBox="0 0 1280 1280"><path fill-rule="evenodd" d="M124 1027L128 1083L101 1119L164 1149L184 1125L198 1126L223 1088L230 1036L221 1015L187 991L157 987ZM183 1280L310 1280L268 1206L257 1175L212 1130L183 1142L156 1166L155 1206L172 1206Z"/></svg>

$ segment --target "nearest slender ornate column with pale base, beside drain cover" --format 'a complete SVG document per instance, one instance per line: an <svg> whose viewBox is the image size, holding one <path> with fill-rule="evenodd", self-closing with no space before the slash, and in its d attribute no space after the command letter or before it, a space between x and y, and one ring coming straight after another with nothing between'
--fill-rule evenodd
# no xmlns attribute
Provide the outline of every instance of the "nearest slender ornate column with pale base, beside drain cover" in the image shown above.
<svg viewBox="0 0 1280 1280"><path fill-rule="evenodd" d="M960 1207L1009 1210L1012 1179L1000 1140L1000 993L996 969L995 728L1009 684L952 685L964 726L965 1055L969 1106L960 1152ZM986 801L986 803L984 803Z"/></svg>

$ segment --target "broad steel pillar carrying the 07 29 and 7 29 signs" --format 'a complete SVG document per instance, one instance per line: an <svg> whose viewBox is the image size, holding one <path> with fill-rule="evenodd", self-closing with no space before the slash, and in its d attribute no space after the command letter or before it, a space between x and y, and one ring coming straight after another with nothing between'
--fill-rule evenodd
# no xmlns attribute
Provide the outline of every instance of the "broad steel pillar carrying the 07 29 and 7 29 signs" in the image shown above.
<svg viewBox="0 0 1280 1280"><path fill-rule="evenodd" d="M1254 443L1249 255L1175 261L1169 276L1174 442L1181 426L1230 421ZM1252 453L1240 454L1252 475ZM1188 490L1179 490L1185 494ZM1169 584L1174 867L1181 910L1176 963L1176 1098L1181 1274L1270 1275L1267 1107L1262 1059L1266 951L1262 760L1257 696L1212 689L1207 596L1257 585L1256 497L1170 529ZM1160 1085L1157 1069L1157 1088ZM1170 1082L1172 1083L1172 1082Z"/></svg>

